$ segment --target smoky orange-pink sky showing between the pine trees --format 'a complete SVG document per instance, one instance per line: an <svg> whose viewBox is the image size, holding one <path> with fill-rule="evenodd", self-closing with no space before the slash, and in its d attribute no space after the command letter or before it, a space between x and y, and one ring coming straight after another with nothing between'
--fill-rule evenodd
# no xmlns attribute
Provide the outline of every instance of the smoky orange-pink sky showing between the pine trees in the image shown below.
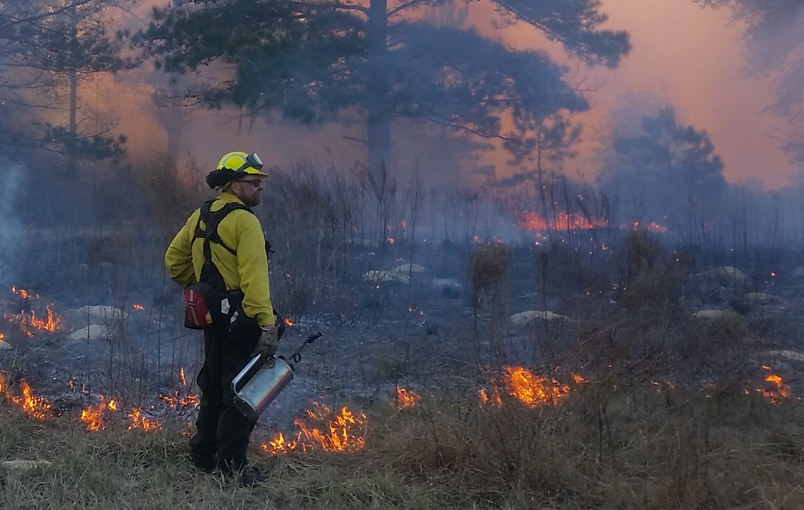
<svg viewBox="0 0 804 510"><path fill-rule="evenodd" d="M147 18L150 6L163 3L139 6L142 18ZM568 80L585 91L593 108L573 117L584 126L583 142L578 156L557 170L593 179L610 114L627 109L634 96L648 95L658 104L673 106L685 124L708 133L724 161L729 182L761 182L776 189L798 173L781 149L780 133L792 128L773 108L781 87L792 83L780 80L797 74L757 72L745 45L745 24L732 19L727 9L704 9L692 0L603 0L602 10L609 15L606 28L628 31L633 43L630 55L613 71L574 62L563 48L546 41L532 27L508 23L485 0L471 2L468 13L445 15L445 9L454 10L425 8L420 13L433 22L477 27L486 37L511 47L544 49L570 66ZM771 40L764 44L764 51L773 48ZM148 82L156 79L146 74L140 71L139 79L145 80L141 84L127 85L133 100L119 105L124 110L121 129L128 131L134 153L158 149L165 143L164 133L154 129L150 118L153 107ZM310 161L347 166L365 157L365 147L355 141L365 135L360 122L306 127L244 117L244 112L232 110L187 109L185 113L181 152L203 167L233 149L256 150L275 165ZM455 161L452 154L444 157L432 135L400 125L395 130L394 150L404 153L400 159L405 165L420 165L426 173L441 176L441 181L470 182L478 168L490 166L503 178L527 170L527 163L524 168L510 165L502 149L483 153L478 160Z"/></svg>

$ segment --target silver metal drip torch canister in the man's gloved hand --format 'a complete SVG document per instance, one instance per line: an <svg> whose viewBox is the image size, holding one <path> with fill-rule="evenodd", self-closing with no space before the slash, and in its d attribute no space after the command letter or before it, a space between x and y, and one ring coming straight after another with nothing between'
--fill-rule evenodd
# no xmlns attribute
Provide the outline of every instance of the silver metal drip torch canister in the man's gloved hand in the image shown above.
<svg viewBox="0 0 804 510"><path fill-rule="evenodd" d="M260 414L277 398L277 395L285 390L290 381L293 381L293 367L280 357L272 357L265 361L265 364L248 381L240 384L240 381L246 374L252 372L259 361L260 355L257 354L232 379L235 406L250 418L259 418Z"/></svg>

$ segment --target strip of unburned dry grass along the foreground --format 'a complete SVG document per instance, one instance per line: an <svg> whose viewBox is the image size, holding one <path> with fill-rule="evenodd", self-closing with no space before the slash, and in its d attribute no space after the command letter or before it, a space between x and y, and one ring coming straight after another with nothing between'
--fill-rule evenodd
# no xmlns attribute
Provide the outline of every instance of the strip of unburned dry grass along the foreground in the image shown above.
<svg viewBox="0 0 804 510"><path fill-rule="evenodd" d="M353 454L255 453L260 488L203 475L177 427L157 433L33 422L0 407L2 508L802 508L798 401L738 392L581 385L563 405L425 398L370 410Z"/></svg>

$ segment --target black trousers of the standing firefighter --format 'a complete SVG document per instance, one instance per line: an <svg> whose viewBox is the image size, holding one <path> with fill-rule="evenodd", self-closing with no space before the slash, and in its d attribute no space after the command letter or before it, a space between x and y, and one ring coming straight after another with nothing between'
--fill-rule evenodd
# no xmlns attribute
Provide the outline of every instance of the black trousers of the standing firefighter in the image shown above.
<svg viewBox="0 0 804 510"><path fill-rule="evenodd" d="M256 419L235 407L232 379L251 359L259 337L256 320L242 312L231 327L204 329L204 363L198 377L201 406L190 439L191 458L202 469L232 472L246 465L248 435Z"/></svg>

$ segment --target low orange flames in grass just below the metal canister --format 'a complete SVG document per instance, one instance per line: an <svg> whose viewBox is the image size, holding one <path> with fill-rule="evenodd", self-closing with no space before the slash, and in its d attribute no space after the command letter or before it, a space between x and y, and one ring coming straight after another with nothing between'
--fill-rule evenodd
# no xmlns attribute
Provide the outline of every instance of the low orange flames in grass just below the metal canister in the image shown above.
<svg viewBox="0 0 804 510"><path fill-rule="evenodd" d="M323 404L313 402L313 410L306 410L309 422L297 417L293 423L299 428L296 439L286 441L280 432L273 440L262 444L270 455L287 454L291 451L358 451L365 445L366 415L355 414L343 406L340 413L333 413ZM312 424L320 423L322 428Z"/></svg>

